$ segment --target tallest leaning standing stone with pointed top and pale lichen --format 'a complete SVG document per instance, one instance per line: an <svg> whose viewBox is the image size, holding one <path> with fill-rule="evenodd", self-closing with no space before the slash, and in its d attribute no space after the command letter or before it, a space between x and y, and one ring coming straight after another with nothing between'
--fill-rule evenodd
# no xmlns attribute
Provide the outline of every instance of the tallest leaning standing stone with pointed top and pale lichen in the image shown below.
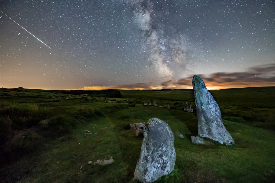
<svg viewBox="0 0 275 183"><path fill-rule="evenodd" d="M221 110L211 93L206 89L203 80L194 75L192 84L195 94L199 136L211 138L221 144L234 144L232 136L225 129L221 120Z"/></svg>

